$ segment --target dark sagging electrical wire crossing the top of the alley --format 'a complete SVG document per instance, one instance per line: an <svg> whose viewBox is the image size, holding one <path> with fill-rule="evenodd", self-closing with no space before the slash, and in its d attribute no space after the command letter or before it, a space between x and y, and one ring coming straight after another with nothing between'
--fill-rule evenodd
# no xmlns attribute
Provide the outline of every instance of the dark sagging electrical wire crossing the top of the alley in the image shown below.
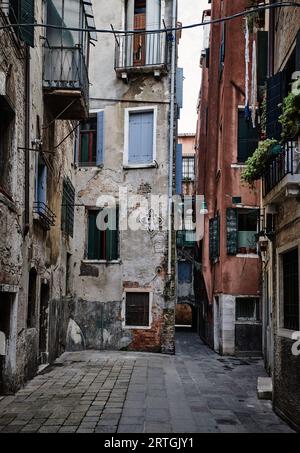
<svg viewBox="0 0 300 453"><path fill-rule="evenodd" d="M213 19L207 22L199 22L196 24L190 25L180 25L178 27L167 27L167 28L160 28L156 30L115 30L115 29L98 29L98 28L77 28L77 27L61 27L59 25L52 25L52 24L9 24L9 25L2 25L0 30L16 28L16 27L36 27L36 28L51 28L54 30L61 30L61 31L78 31L78 32L86 32L86 33L102 33L102 34L113 34L113 35L124 35L124 34L155 34L155 33L166 33L166 32L173 32L173 31L181 31L181 30L188 30L197 27L205 27L206 25L214 25L219 24L222 22L226 22L229 20L237 19L239 17L248 16L255 12L271 10L275 8L287 8L287 7L294 7L300 8L300 3L296 2L282 2L282 3L272 3L268 5L258 6L257 8L249 8L244 11L240 11L238 13L232 14L231 16L220 17L218 19Z"/></svg>

